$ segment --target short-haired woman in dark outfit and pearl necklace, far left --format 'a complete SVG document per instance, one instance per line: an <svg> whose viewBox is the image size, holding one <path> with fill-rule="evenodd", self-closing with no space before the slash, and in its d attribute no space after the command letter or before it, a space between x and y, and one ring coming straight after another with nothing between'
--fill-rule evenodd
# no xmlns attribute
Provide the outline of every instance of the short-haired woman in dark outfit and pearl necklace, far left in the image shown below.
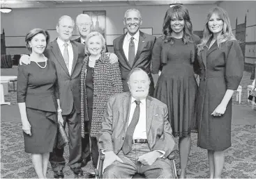
<svg viewBox="0 0 256 179"><path fill-rule="evenodd" d="M18 67L17 103L20 108L24 131L25 152L31 153L31 160L38 178L46 178L50 152L57 135L59 89L54 64L47 60L43 51L49 42L47 31L35 28L26 36L31 51L31 64Z"/></svg>

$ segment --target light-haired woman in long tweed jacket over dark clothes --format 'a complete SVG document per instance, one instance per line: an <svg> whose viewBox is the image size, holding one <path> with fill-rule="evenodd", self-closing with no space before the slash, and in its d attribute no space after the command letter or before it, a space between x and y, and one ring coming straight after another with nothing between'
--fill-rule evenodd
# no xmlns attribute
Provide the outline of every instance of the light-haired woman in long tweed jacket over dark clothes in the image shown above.
<svg viewBox="0 0 256 179"><path fill-rule="evenodd" d="M110 96L123 92L118 63L110 64L105 54L105 39L98 32L89 33L85 42L85 53L81 73L81 124L82 137L90 134L93 167L98 162L96 136ZM88 125L84 125L84 122Z"/></svg>

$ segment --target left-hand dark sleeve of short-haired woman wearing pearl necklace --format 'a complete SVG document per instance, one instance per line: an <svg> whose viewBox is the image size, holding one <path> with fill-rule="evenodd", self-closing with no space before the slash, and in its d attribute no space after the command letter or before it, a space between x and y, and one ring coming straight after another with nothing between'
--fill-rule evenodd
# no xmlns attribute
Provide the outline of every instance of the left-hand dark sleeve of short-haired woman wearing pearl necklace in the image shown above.
<svg viewBox="0 0 256 179"><path fill-rule="evenodd" d="M29 82L29 73L26 67L27 65L19 65L17 67L17 103L24 103L26 101Z"/></svg>

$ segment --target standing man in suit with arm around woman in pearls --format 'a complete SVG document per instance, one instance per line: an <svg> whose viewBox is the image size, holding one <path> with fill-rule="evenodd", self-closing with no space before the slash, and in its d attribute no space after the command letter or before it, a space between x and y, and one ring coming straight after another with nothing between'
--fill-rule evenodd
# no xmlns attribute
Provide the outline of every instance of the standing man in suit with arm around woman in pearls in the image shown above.
<svg viewBox="0 0 256 179"><path fill-rule="evenodd" d="M48 44L45 56L54 62L57 70L61 110L58 115L63 117L63 126L68 124L69 162L75 177L83 176L81 169L81 119L80 119L80 74L84 59L84 45L70 41L75 22L67 15L59 18L56 26L59 37ZM22 56L21 62L26 62L28 56ZM65 159L64 148L54 148L50 153L50 163L54 171L54 178L64 178L63 168Z"/></svg>

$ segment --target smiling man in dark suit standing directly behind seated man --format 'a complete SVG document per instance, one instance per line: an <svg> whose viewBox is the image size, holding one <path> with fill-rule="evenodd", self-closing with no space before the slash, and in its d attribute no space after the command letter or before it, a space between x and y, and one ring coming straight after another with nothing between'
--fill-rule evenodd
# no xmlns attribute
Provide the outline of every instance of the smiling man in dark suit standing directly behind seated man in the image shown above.
<svg viewBox="0 0 256 179"><path fill-rule="evenodd" d="M149 95L153 96L153 78L151 76L151 53L156 37L139 31L142 25L142 16L137 9L126 11L123 19L128 33L117 37L114 42L114 53L119 59L123 92L129 92L126 79L130 70L135 67L143 67L151 79Z"/></svg>

